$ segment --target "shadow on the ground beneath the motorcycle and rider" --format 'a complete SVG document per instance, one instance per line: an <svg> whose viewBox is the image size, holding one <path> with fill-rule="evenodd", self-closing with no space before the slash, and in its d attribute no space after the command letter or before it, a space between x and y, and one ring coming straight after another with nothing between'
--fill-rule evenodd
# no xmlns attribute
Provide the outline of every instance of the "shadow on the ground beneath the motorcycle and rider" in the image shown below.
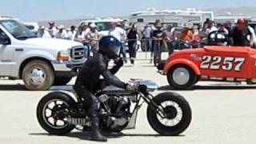
<svg viewBox="0 0 256 144"><path fill-rule="evenodd" d="M46 134L46 133L33 133L30 134L32 136L55 136L51 134ZM160 134L125 134L125 133L103 133L104 136L107 138L122 138L122 137L166 137ZM183 137L185 135L178 135L175 137ZM62 135L60 137L69 137L69 138L79 138L82 140L90 140L90 132L74 132L66 135Z"/></svg>

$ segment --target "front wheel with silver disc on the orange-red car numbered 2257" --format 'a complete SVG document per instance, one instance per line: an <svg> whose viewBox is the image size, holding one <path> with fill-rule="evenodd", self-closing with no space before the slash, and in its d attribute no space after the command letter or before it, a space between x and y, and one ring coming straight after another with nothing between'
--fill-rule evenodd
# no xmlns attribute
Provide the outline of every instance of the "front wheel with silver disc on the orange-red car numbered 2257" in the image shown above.
<svg viewBox="0 0 256 144"><path fill-rule="evenodd" d="M190 90L197 82L197 76L188 66L174 66L167 74L167 80L176 90Z"/></svg>

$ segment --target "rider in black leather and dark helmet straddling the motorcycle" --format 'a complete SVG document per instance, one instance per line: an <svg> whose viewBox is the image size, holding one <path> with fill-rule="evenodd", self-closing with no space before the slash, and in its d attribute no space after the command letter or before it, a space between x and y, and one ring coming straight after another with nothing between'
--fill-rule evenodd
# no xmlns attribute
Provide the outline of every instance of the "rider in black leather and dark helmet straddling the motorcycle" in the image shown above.
<svg viewBox="0 0 256 144"><path fill-rule="evenodd" d="M122 58L119 58L121 46L121 42L114 38L114 36L102 37L99 41L98 53L85 62L74 85L74 90L78 96L85 100L86 106L90 106L90 138L94 141L107 141L107 138L99 131L98 98L94 95L100 90L102 83L100 77L102 76L104 82L108 85L114 85L126 90L134 90L133 86L122 82L114 76L123 66ZM114 67L108 70L108 63L111 59L114 60Z"/></svg>

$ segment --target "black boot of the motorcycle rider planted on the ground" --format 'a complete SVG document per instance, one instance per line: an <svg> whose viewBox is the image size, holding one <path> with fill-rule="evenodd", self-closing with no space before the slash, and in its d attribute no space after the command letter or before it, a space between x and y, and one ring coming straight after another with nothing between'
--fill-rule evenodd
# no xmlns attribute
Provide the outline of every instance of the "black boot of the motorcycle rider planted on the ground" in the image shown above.
<svg viewBox="0 0 256 144"><path fill-rule="evenodd" d="M99 130L98 126L99 120L98 118L92 118L91 122L91 135L90 139L92 141L98 141L98 142L106 142L107 138L102 135L102 133Z"/></svg>

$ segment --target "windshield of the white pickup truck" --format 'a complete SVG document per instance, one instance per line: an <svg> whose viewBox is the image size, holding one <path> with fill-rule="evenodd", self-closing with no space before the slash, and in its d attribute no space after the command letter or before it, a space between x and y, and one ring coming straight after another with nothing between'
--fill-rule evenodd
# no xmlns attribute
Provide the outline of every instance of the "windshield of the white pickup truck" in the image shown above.
<svg viewBox="0 0 256 144"><path fill-rule="evenodd" d="M21 25L14 20L1 21L0 25L3 26L10 34L19 40L25 40L27 38L36 38L36 35L32 33L26 26Z"/></svg>

